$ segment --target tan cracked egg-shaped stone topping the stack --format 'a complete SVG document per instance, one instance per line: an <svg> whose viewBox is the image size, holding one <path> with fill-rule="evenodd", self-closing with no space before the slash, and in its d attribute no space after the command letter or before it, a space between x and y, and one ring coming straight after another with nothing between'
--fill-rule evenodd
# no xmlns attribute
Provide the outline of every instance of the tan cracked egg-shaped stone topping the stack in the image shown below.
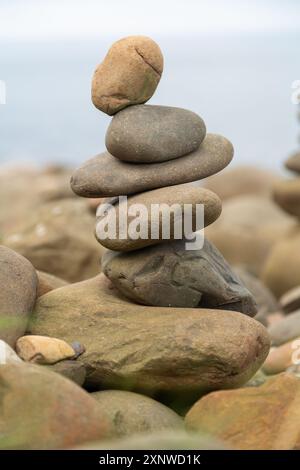
<svg viewBox="0 0 300 470"><path fill-rule="evenodd" d="M92 101L110 116L126 106L148 101L163 71L159 46L146 36L115 42L92 80Z"/></svg>

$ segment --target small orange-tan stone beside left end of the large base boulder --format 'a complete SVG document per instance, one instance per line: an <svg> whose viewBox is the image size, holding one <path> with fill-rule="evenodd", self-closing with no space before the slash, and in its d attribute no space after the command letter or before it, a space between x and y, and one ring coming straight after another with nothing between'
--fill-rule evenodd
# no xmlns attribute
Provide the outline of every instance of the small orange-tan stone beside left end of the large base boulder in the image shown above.
<svg viewBox="0 0 300 470"><path fill-rule="evenodd" d="M19 338L16 351L24 361L36 364L55 364L75 355L74 349L65 341L38 335Z"/></svg>

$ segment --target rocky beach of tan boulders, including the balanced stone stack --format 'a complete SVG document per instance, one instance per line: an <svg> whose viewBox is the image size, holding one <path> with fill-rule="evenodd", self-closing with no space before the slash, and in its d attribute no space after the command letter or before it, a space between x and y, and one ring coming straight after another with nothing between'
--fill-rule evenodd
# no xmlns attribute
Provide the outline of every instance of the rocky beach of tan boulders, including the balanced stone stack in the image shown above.
<svg viewBox="0 0 300 470"><path fill-rule="evenodd" d="M200 116L145 104L163 63L132 36L97 67L104 153L0 167L0 449L300 450L300 155L226 168ZM104 239L119 196L189 204L189 235L201 204L203 247L149 210Z"/></svg>

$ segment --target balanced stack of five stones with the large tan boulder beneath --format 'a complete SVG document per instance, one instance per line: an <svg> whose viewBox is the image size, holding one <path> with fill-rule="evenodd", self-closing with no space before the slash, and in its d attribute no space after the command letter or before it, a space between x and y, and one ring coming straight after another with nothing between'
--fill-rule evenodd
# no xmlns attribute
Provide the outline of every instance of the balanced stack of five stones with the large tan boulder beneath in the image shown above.
<svg viewBox="0 0 300 470"><path fill-rule="evenodd" d="M104 239L99 215L96 236L108 249L102 258L106 278L102 274L73 285L72 292L63 287L44 296L33 328L36 334L51 334L59 322L65 340L76 330L86 347L80 360L94 387L199 396L250 379L267 356L269 338L250 318L256 313L252 295L211 243L205 240L202 249L186 250L186 239L175 240L172 223L170 240L163 240L162 217L159 236L151 237L152 204L176 204L173 221L185 204L191 205L191 232L202 229L197 204L204 206L204 225L213 223L221 213L218 196L186 183L217 173L233 156L231 143L206 134L197 114L144 104L162 71L158 45L143 36L113 44L95 71L93 103L114 115L107 152L77 169L71 186L83 197L110 198L108 219L112 207L123 204L118 196L128 196L128 221L134 205L143 205L147 210L139 223L147 234L131 237L127 225L121 236L117 220L116 236ZM65 295L67 302L67 292L73 317L80 314L80 328L69 311L55 308L58 297Z"/></svg>

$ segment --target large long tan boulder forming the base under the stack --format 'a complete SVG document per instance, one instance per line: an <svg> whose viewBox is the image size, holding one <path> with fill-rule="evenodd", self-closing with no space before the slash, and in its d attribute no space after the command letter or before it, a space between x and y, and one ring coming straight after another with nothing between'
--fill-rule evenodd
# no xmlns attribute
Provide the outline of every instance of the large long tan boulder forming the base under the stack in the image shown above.
<svg viewBox="0 0 300 470"><path fill-rule="evenodd" d="M246 315L132 304L103 274L40 297L29 332L84 344L77 361L90 386L150 395L238 387L269 351L265 328Z"/></svg>

